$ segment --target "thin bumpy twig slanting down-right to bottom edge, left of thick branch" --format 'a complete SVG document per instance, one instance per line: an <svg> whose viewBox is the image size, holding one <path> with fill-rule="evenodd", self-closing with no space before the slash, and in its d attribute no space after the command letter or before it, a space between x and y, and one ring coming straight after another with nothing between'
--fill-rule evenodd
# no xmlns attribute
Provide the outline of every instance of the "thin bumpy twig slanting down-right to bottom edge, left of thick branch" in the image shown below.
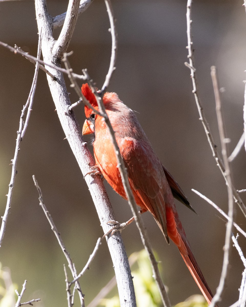
<svg viewBox="0 0 246 307"><path fill-rule="evenodd" d="M57 240L58 240L58 243L59 243L60 247L62 248L63 254L65 255L65 257L66 257L66 259L67 259L69 269L70 269L71 272L72 272L73 278L76 278L76 277L77 277L77 274L75 273L75 271L74 271L74 269L73 269L73 262L72 262L72 259L71 259L70 255L69 255L69 252L68 252L67 249L65 248L65 245L64 245L64 243L63 243L63 241L62 241L62 238L61 238L61 235L60 235L60 233L58 232L58 230L57 230L57 228L56 228L56 226L55 226L55 224L54 224L54 221L53 221L53 219L52 219L52 217L51 217L49 211L47 210L47 208L46 208L46 206L45 206L45 204L44 204L44 202L43 202L42 192L41 192L41 189L40 189L40 187L39 187L39 185L38 185L38 182L37 182L37 180L36 180L36 178L35 178L34 175L33 175L33 181L34 181L34 184L35 184L35 186L36 186L36 188L37 188L37 190L38 190L38 194L39 194L39 198L38 198L38 199L39 199L39 202L40 202L39 204L40 204L40 206L42 207L42 209L43 209L43 211L44 211L44 213L45 213L45 215L46 215L46 218L47 218L47 220L48 220L49 223L50 223L51 229L54 231L54 234L55 234L55 236L56 236L56 238L57 238ZM81 290L81 287L80 287L80 284L79 284L78 281L77 281L77 290L78 290L78 294L79 294L79 297L80 297L81 306L84 307L84 306L85 306L85 303L84 303L84 295L83 295L83 293L82 293L82 290Z"/></svg>

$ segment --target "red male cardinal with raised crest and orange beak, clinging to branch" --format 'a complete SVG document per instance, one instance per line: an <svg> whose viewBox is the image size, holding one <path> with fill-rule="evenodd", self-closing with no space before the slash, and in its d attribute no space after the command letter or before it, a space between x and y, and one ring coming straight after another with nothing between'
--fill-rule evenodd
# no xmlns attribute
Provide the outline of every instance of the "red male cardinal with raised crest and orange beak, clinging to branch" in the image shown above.
<svg viewBox="0 0 246 307"><path fill-rule="evenodd" d="M96 98L89 85L83 84L81 90L85 98L98 110ZM161 164L134 112L122 103L116 93L105 93L103 103L115 131L116 141L128 171L129 183L136 203L141 207L141 213L151 212L167 243L170 238L177 245L185 264L210 304L212 292L191 251L174 204L174 197L194 210L180 186ZM82 133L94 134L96 165L112 188L126 199L106 124L100 115L87 106L85 116Z"/></svg>

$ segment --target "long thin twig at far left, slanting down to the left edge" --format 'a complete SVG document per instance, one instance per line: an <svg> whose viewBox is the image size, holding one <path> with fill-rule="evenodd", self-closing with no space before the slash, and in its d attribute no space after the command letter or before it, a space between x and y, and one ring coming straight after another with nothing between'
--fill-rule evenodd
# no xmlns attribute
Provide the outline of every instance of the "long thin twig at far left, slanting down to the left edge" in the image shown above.
<svg viewBox="0 0 246 307"><path fill-rule="evenodd" d="M35 68L35 72L34 72L33 83L32 83L32 86L31 86L31 90L30 90L29 97L27 99L26 105L23 106L23 109L22 109L22 112L21 112L19 130L17 131L17 139L16 139L14 158L11 160L12 161L12 163L11 163L12 164L12 173L11 173L10 184L9 184L9 192L7 194L6 208L5 208L4 215L2 216L2 225L1 225L1 229L0 229L0 247L1 247L2 240L3 240L3 237L4 237L5 231L6 231L6 223L7 223L8 215L9 215L10 208L11 208L11 200L12 200L12 193L13 193L13 188L14 188L14 181L15 181L15 176L17 174L16 168L17 168L18 153L20 151L20 144L21 144L22 138L24 137L24 134L26 132L28 121L29 121L29 118L30 118L31 105L33 103L34 94L35 94L35 90L36 90L36 82L37 82L37 77L38 77L38 58L40 57L40 53L41 53L41 32L42 32L42 29L41 29L40 34L39 34L38 56L36 58L37 64L36 64L36 68ZM28 109L28 112L27 112L27 115L26 115L26 122L24 124L24 115L25 115L25 112L26 112L27 109Z"/></svg>

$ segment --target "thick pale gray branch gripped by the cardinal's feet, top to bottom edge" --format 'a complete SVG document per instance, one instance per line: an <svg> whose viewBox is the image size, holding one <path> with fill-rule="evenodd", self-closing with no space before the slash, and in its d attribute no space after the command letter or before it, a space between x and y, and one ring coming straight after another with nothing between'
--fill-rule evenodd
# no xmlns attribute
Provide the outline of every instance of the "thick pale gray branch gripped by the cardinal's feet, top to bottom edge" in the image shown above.
<svg viewBox="0 0 246 307"><path fill-rule="evenodd" d="M46 2L44 0L36 0L35 8L38 29L42 27L43 33L43 57L46 62L59 65L59 61L54 60L51 52L54 45L54 39L52 37L52 22L50 21L49 15L46 11ZM57 81L53 81L49 76L47 76L58 117L73 154L77 159L81 172L85 175L89 172L90 167L94 165L93 157L82 138L81 130L73 111L67 111L67 108L71 103L65 88L62 73L53 68L51 68L50 71L57 78ZM97 214L103 231L107 232L109 230L107 222L109 220L115 220L115 217L105 187L99 176L95 176L94 178L86 176L85 181L89 187L92 199L97 209ZM115 239L115 237L117 239ZM120 234L117 233L114 237L109 238L107 243L113 261L121 306L136 306L131 271Z"/></svg>

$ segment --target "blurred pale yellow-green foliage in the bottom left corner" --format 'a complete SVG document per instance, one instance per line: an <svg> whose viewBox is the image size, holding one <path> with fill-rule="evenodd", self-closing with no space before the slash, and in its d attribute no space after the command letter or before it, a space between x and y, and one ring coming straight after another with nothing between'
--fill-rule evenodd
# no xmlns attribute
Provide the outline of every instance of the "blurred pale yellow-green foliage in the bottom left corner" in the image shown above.
<svg viewBox="0 0 246 307"><path fill-rule="evenodd" d="M16 303L17 285L12 283L10 272L2 270L0 262L0 307L13 307Z"/></svg>

